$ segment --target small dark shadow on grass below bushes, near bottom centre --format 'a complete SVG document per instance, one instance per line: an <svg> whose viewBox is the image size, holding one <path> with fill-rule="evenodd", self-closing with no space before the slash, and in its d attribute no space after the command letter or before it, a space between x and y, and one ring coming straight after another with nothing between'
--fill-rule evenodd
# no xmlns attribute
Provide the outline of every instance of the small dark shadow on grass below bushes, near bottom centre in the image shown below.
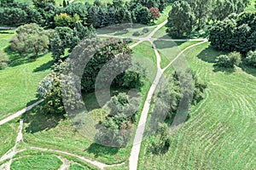
<svg viewBox="0 0 256 170"><path fill-rule="evenodd" d="M101 144L93 143L93 144L90 144L90 146L85 150L88 153L94 154L96 157L98 157L98 156L105 157L105 156L113 156L113 155L117 154L117 152L119 151L119 148L107 147L107 146L103 146Z"/></svg>

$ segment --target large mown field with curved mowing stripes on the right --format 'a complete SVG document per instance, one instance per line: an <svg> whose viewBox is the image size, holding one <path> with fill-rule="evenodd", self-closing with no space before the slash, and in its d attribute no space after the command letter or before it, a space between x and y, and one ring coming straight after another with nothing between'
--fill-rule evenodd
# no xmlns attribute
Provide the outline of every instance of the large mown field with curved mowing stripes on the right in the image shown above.
<svg viewBox="0 0 256 170"><path fill-rule="evenodd" d="M201 107L173 134L163 156L144 155L140 169L253 169L255 159L256 80L240 68L217 71L220 54L209 44L185 54L192 70L207 81L208 95Z"/></svg>

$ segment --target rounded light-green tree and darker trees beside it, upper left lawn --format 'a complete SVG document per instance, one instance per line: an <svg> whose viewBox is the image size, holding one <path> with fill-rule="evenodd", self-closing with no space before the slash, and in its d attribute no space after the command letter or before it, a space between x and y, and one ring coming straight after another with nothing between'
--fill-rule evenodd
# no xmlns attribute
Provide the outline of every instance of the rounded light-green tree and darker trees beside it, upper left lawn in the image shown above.
<svg viewBox="0 0 256 170"><path fill-rule="evenodd" d="M53 59L58 61L64 55L65 48L72 49L84 39L95 34L93 27L85 27L76 22L73 29L55 27L55 30L44 30L37 24L20 26L10 41L10 48L20 54L37 58L39 54L52 52Z"/></svg>

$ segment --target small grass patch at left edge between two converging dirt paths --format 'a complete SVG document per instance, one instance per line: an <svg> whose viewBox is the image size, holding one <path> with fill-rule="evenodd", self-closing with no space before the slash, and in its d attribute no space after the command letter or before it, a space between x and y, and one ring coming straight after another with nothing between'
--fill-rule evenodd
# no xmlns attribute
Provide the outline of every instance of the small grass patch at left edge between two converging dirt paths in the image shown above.
<svg viewBox="0 0 256 170"><path fill-rule="evenodd" d="M0 157L14 147L19 123L16 120L0 126Z"/></svg>

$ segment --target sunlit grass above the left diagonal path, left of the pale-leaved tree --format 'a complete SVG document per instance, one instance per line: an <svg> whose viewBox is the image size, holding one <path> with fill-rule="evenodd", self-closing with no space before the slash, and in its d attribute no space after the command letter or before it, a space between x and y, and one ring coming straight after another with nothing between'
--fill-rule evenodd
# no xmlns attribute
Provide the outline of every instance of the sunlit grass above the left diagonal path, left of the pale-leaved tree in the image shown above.
<svg viewBox="0 0 256 170"><path fill-rule="evenodd" d="M36 99L38 82L49 74L50 60L50 54L46 54L31 63L0 71L0 119Z"/></svg>

